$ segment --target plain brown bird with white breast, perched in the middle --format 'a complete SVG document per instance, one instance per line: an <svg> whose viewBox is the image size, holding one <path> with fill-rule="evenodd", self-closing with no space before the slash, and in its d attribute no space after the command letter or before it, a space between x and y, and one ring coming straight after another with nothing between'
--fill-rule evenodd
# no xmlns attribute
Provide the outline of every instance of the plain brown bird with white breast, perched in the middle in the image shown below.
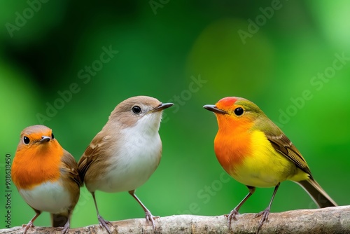
<svg viewBox="0 0 350 234"><path fill-rule="evenodd" d="M78 162L80 178L94 198L100 226L111 233L100 216L95 191L117 193L129 191L146 213L146 220L155 227L155 216L135 195L135 190L144 184L160 163L162 142L158 130L162 110L172 103L161 103L146 96L130 97L120 102L109 116L101 132Z"/></svg>

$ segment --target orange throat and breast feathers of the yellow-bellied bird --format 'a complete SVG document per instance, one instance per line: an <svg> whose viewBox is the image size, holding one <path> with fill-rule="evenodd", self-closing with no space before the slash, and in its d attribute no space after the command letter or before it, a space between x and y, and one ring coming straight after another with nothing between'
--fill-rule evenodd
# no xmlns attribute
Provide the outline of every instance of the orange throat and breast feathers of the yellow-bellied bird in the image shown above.
<svg viewBox="0 0 350 234"><path fill-rule="evenodd" d="M228 174L235 174L235 168L252 155L251 132L253 122L232 120L227 115L217 115L220 126L214 140L216 158Z"/></svg>

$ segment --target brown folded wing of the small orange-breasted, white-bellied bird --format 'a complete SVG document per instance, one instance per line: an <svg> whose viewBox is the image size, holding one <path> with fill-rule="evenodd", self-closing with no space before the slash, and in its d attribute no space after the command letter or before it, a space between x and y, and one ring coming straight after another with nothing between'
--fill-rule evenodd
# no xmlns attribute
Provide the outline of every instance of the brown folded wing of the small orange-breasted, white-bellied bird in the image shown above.
<svg viewBox="0 0 350 234"><path fill-rule="evenodd" d="M64 173L71 181L76 182L78 186L82 186L83 182L80 180L78 173L78 164L73 158L71 153L64 150L62 157L62 167L60 168L61 172Z"/></svg>

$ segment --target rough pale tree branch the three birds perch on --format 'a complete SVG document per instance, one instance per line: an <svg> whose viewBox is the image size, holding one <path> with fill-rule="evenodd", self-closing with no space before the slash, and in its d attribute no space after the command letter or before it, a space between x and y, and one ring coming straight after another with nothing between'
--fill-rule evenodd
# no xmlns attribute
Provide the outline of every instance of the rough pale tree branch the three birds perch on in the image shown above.
<svg viewBox="0 0 350 234"><path fill-rule="evenodd" d="M173 215L155 221L155 230L147 225L145 219L128 219L114 221L113 233L255 233L260 218L254 219L255 214L241 214L238 221L232 221L228 229L228 219L225 216L194 216ZM0 230L0 234L22 233L23 228L15 227ZM35 234L60 233L55 228L30 228L27 232ZM106 233L99 225L73 228L73 234ZM324 209L300 209L289 212L269 214L260 233L350 233L350 206L328 207Z"/></svg>

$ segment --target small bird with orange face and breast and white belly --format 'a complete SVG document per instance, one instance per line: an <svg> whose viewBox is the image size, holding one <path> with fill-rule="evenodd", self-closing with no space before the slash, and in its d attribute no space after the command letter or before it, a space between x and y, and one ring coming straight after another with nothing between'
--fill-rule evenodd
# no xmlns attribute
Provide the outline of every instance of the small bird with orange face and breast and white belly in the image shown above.
<svg viewBox="0 0 350 234"><path fill-rule="evenodd" d="M13 183L36 212L25 226L31 228L41 212L50 212L52 226L68 233L71 213L80 194L78 164L43 125L25 128L20 135L11 170Z"/></svg>

